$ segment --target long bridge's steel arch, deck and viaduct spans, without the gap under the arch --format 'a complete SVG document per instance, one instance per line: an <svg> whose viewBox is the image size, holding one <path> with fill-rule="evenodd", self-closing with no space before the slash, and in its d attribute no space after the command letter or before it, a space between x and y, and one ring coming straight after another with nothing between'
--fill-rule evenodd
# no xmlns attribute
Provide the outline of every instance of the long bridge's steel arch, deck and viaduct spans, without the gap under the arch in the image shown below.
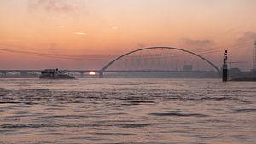
<svg viewBox="0 0 256 144"><path fill-rule="evenodd" d="M157 70L157 69L153 69L153 70L108 70L108 67L112 66L114 63L116 63L118 60L121 60L123 58L125 58L128 55L140 52L140 51L146 51L149 49L174 49L177 51L182 51L184 53L190 54L190 55L195 55L196 57L198 57L199 59L205 61L208 65L212 66L212 68L214 70L216 70L216 72L220 72L218 66L214 65L210 60L207 60L205 57L198 55L192 51L189 50L185 50L185 49L179 49L179 48L173 48L173 47L149 47L149 48L143 48L143 49L137 49L137 50L133 50L129 53L126 53L124 55L120 55L119 57L117 57L116 59L109 61L107 63L107 65L103 66L102 69L100 70L62 70L61 72L67 73L67 72L79 72L82 76L84 75L84 73L87 72L96 72L99 74L99 77L102 78L103 77L103 73L104 72L186 72L186 71L171 71L171 70ZM2 73L2 76L6 76L6 74L8 74L9 72L19 72L21 76L26 76L28 73L31 72L41 72L42 70L0 70L0 73ZM194 71L195 72L195 71ZM201 72L201 71L197 71L197 72Z"/></svg>

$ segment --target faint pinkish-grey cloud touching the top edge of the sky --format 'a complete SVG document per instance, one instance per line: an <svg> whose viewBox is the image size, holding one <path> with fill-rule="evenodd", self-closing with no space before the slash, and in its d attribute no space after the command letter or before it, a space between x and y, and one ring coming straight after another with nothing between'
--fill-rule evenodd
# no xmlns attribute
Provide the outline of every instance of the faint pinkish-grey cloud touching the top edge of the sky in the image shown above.
<svg viewBox="0 0 256 144"><path fill-rule="evenodd" d="M71 12L79 9L82 5L81 0L30 0L30 9L44 9L49 12Z"/></svg>

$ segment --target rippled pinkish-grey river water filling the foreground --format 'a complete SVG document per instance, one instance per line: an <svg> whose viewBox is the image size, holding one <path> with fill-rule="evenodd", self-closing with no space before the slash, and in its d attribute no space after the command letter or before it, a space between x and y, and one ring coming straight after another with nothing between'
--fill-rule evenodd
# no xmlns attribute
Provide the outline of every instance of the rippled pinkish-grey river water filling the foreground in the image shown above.
<svg viewBox="0 0 256 144"><path fill-rule="evenodd" d="M0 78L0 143L256 143L256 84Z"/></svg>

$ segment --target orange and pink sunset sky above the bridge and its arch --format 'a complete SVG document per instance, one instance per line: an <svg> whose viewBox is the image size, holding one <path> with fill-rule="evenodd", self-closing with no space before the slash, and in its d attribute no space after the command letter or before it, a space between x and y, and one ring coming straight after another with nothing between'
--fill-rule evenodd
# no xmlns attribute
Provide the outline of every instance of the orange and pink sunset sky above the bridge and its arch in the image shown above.
<svg viewBox="0 0 256 144"><path fill-rule="evenodd" d="M134 49L172 46L219 50L203 54L218 66L226 48L249 70L255 8L255 0L1 0L0 69L95 69Z"/></svg>

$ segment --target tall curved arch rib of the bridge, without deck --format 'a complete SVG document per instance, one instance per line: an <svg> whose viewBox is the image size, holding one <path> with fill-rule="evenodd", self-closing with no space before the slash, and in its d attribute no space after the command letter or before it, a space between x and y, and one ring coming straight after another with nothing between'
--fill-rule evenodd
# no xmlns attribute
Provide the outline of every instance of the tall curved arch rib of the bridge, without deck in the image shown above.
<svg viewBox="0 0 256 144"><path fill-rule="evenodd" d="M131 52L128 52L124 55L120 55L119 57L117 57L116 59L108 62L107 65L103 66L102 69L100 70L100 73L106 71L108 69L109 66L113 65L114 62L116 62L117 60L120 60L122 59L123 57L127 56L127 55L131 55L133 53L136 53L138 51L143 51L143 50L148 50L148 49L175 49L175 50L179 50L179 51L183 51L183 52L186 52L186 53L189 53L191 55L195 55L197 57L199 57L201 60L204 60L206 61L209 65L211 65L217 72L220 72L220 70L218 69L218 66L214 65L210 60L207 60L206 58L204 58L203 56L201 55L198 55L192 51L189 51L189 50L185 50L185 49L179 49L179 48L174 48L174 47L148 47L148 48L143 48L143 49L136 49L136 50L133 50Z"/></svg>

